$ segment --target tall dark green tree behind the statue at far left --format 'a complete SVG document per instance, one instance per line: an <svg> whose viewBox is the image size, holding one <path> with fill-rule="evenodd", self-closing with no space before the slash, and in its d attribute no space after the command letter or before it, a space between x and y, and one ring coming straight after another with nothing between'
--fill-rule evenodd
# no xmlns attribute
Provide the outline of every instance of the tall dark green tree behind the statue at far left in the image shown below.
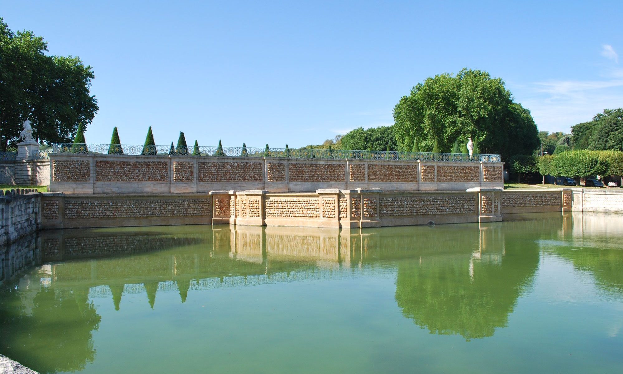
<svg viewBox="0 0 623 374"><path fill-rule="evenodd" d="M95 77L78 57L46 55L47 42L32 31L12 32L0 18L0 148L17 143L22 123L33 122L41 142L69 142L97 113L90 95Z"/></svg>

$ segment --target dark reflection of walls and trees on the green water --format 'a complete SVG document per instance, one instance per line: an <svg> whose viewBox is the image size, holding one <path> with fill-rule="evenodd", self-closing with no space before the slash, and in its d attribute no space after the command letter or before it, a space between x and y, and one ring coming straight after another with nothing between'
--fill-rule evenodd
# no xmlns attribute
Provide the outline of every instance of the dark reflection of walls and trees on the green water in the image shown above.
<svg viewBox="0 0 623 374"><path fill-rule="evenodd" d="M394 274L397 307L419 327L466 340L491 337L529 292L543 246L592 272L603 289L623 294L623 251L603 242L620 242L621 226L606 227L599 219L552 214L481 226L364 230L222 225L43 231L0 249L0 353L42 373L83 370L95 360L93 331L102 319L93 297L105 297L123 312L123 295L144 294L156 309L158 292L177 292L184 303L189 290L377 271Z"/></svg>

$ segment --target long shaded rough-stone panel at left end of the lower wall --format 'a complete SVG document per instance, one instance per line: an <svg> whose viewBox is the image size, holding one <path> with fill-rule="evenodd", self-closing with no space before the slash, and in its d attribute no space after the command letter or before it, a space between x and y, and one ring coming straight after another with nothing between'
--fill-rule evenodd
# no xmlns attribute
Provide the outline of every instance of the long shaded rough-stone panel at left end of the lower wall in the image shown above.
<svg viewBox="0 0 623 374"><path fill-rule="evenodd" d="M64 218L209 216L211 199L65 199Z"/></svg>

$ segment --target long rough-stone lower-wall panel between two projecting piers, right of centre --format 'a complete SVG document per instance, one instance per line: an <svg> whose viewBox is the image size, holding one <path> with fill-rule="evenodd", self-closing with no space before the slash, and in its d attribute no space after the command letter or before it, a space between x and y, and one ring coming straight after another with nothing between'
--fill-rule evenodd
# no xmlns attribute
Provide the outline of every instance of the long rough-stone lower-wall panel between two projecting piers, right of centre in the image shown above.
<svg viewBox="0 0 623 374"><path fill-rule="evenodd" d="M395 196L381 198L381 216L476 213L475 195Z"/></svg>

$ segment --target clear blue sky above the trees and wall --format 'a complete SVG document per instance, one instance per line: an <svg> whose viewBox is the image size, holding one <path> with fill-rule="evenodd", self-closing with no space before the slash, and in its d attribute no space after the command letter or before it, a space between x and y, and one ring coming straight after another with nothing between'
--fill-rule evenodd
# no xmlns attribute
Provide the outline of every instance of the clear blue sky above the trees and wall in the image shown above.
<svg viewBox="0 0 623 374"><path fill-rule="evenodd" d="M5 1L95 72L85 137L283 147L393 123L429 76L501 77L540 130L623 107L623 1Z"/></svg>

